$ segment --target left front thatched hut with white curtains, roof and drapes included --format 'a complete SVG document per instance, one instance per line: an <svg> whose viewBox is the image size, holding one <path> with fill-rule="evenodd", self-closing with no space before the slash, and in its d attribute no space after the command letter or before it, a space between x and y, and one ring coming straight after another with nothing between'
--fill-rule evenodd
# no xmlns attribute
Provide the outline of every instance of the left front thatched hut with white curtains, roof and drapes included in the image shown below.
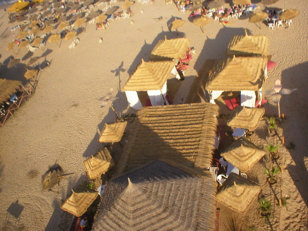
<svg viewBox="0 0 308 231"><path fill-rule="evenodd" d="M166 99L167 79L175 65L171 61L144 62L136 67L125 83L125 91L129 105L138 110L142 107L137 91L147 91L152 106L168 105Z"/></svg>

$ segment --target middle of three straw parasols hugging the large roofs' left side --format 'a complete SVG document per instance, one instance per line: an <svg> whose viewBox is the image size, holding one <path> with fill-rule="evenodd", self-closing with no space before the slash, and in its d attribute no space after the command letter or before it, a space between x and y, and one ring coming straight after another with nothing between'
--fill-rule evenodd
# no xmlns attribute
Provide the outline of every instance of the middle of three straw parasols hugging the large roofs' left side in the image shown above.
<svg viewBox="0 0 308 231"><path fill-rule="evenodd" d="M107 148L99 151L95 156L92 155L83 164L91 180L100 177L115 165Z"/></svg>

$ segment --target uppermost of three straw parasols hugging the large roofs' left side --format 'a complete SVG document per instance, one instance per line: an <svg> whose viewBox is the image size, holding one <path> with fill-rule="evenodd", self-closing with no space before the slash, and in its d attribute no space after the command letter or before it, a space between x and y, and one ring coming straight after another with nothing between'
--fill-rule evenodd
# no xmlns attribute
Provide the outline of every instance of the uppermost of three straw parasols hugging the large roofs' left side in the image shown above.
<svg viewBox="0 0 308 231"><path fill-rule="evenodd" d="M99 137L99 142L109 143L109 142L118 142L121 140L127 121L121 121L113 124L105 124L102 134Z"/></svg>

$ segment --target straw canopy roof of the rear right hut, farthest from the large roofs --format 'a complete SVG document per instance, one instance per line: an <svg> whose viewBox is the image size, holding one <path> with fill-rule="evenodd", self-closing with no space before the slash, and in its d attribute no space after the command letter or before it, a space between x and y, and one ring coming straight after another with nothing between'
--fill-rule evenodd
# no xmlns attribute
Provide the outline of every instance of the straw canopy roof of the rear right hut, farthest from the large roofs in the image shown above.
<svg viewBox="0 0 308 231"><path fill-rule="evenodd" d="M245 30L245 35L236 35L231 39L227 55L268 56L269 40L266 35L248 35Z"/></svg>

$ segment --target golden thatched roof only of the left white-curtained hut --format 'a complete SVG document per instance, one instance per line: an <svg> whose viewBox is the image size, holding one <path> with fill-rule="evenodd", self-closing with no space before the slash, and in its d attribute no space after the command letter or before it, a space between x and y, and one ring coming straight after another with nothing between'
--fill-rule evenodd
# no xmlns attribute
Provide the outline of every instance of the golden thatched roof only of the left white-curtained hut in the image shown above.
<svg viewBox="0 0 308 231"><path fill-rule="evenodd" d="M124 91L160 90L171 75L174 67L172 61L144 62L136 67L134 73L125 83Z"/></svg>

